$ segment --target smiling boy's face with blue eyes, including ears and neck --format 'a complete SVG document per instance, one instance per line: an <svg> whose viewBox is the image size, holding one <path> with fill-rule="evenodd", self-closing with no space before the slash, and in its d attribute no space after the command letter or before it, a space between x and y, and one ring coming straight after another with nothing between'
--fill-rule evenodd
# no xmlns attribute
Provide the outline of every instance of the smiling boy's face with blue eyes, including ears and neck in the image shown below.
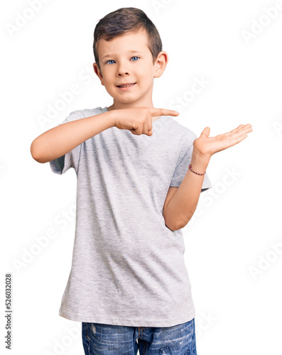
<svg viewBox="0 0 282 355"><path fill-rule="evenodd" d="M152 102L153 78L160 77L166 68L166 55L161 52L153 64L146 31L129 32L112 40L99 40L98 55L101 72L94 71L114 98L116 106L134 104L145 107ZM134 84L120 88L118 85Z"/></svg>

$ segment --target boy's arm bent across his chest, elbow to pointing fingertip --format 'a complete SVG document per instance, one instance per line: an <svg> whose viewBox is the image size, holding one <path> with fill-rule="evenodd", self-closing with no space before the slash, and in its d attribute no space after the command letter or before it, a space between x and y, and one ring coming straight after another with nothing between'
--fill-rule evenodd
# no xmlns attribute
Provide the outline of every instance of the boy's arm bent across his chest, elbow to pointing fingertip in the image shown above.
<svg viewBox="0 0 282 355"><path fill-rule="evenodd" d="M60 158L82 142L113 126L127 129L137 136L141 134L151 136L152 117L178 116L178 114L178 111L168 109L135 107L115 109L85 119L77 119L40 134L31 143L31 155L38 163L47 163Z"/></svg>

